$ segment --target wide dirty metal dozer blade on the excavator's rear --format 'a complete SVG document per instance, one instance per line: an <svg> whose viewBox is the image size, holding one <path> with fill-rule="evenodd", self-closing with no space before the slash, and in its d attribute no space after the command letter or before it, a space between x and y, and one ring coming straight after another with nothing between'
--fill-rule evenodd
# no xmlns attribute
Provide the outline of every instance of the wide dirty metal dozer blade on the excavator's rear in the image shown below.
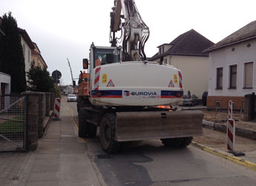
<svg viewBox="0 0 256 186"><path fill-rule="evenodd" d="M118 142L176 137L194 137L203 134L202 111L141 111L116 112Z"/></svg>

